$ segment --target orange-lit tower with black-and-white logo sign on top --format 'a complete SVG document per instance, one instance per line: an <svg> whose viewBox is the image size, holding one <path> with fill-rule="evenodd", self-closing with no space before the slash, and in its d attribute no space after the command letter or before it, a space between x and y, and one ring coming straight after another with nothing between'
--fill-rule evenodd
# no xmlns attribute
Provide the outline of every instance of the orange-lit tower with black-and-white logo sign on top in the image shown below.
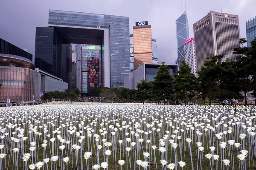
<svg viewBox="0 0 256 170"><path fill-rule="evenodd" d="M137 22L133 27L134 70L143 63L152 63L151 25Z"/></svg>

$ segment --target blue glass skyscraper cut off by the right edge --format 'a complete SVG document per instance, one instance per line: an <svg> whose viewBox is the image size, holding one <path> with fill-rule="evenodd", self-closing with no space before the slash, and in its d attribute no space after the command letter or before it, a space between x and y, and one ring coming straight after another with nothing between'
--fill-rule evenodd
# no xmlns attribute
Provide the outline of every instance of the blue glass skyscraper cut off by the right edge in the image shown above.
<svg viewBox="0 0 256 170"><path fill-rule="evenodd" d="M250 42L256 37L256 17L246 21L246 38L247 47L250 47Z"/></svg>

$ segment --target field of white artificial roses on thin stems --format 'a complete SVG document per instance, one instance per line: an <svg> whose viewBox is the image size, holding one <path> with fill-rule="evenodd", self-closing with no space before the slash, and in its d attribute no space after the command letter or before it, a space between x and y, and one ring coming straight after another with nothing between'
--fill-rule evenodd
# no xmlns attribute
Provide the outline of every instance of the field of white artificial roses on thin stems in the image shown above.
<svg viewBox="0 0 256 170"><path fill-rule="evenodd" d="M256 169L256 106L0 108L0 170Z"/></svg>

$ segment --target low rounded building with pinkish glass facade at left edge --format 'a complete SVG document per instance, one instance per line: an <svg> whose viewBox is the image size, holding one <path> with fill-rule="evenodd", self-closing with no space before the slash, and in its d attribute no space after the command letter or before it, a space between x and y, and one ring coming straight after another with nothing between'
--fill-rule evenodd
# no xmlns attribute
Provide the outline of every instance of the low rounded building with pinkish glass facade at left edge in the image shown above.
<svg viewBox="0 0 256 170"><path fill-rule="evenodd" d="M0 102L39 100L40 79L32 54L0 39Z"/></svg>

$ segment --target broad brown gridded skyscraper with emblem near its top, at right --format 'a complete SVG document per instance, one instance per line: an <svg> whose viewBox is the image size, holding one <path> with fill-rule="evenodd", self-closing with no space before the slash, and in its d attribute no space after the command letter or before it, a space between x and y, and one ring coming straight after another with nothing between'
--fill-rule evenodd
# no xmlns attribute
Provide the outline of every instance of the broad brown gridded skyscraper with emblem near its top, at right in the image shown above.
<svg viewBox="0 0 256 170"><path fill-rule="evenodd" d="M207 57L223 55L221 61L236 60L233 49L239 47L238 15L211 11L194 23L193 28L197 70L201 70Z"/></svg>

